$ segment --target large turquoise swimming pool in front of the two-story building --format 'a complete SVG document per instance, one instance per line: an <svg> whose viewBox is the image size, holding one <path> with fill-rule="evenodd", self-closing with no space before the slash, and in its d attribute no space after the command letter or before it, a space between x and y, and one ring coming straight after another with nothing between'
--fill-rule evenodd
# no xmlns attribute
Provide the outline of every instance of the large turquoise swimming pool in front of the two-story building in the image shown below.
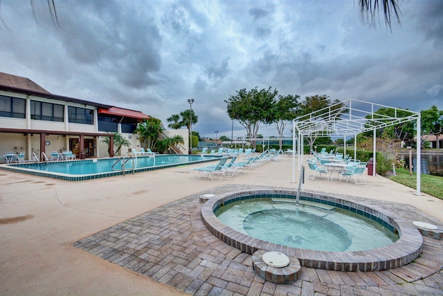
<svg viewBox="0 0 443 296"><path fill-rule="evenodd" d="M1 169L12 172L57 178L66 181L85 181L95 178L105 178L154 169L177 167L194 163L204 163L215 160L220 156L169 155L141 156L137 158L94 158L89 160L66 160L46 163L23 163L17 165L2 165ZM125 171L123 172L123 162ZM113 169L114 166L114 169Z"/></svg>

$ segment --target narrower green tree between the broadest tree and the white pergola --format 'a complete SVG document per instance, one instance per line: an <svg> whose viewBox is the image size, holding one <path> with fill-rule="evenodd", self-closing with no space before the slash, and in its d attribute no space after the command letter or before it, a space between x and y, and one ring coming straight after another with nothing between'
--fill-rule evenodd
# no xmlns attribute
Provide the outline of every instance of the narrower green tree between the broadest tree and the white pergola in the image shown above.
<svg viewBox="0 0 443 296"><path fill-rule="evenodd" d="M298 99L300 99L300 95L278 95L278 98L270 111L270 120L275 124L278 136L280 136L280 149L282 149L282 138L286 124L294 118L297 118L299 111Z"/></svg>

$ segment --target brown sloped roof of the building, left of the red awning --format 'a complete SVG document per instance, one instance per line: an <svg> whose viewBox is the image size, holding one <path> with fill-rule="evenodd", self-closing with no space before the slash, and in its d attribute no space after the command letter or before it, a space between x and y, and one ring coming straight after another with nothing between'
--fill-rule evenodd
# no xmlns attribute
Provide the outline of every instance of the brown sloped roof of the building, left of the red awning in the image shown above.
<svg viewBox="0 0 443 296"><path fill-rule="evenodd" d="M39 86L32 80L25 77L19 77L7 73L0 72L0 91L10 91L13 93L24 93L25 95L35 95L42 98L60 100L64 102L73 102L77 104L87 104L94 107L110 108L110 105L90 102L75 98L64 97L62 95L54 95L49 93L42 86Z"/></svg>

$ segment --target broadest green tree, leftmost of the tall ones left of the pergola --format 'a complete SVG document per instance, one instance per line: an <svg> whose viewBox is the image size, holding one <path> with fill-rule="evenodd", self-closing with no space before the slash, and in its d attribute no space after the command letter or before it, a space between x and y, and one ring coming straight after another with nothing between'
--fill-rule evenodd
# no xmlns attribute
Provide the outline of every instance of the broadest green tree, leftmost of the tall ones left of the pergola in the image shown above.
<svg viewBox="0 0 443 296"><path fill-rule="evenodd" d="M230 95L228 100L227 113L230 119L238 120L246 129L246 134L253 138L253 147L255 148L255 138L261 123L272 122L271 111L275 104L275 96L278 91L268 89L257 89L257 86L250 91L240 89L237 95Z"/></svg>

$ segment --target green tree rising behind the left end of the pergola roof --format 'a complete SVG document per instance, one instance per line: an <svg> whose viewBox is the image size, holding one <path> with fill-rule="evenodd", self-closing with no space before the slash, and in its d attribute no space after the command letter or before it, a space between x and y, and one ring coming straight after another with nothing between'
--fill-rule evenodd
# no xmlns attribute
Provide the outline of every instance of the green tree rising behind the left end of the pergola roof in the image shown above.
<svg viewBox="0 0 443 296"><path fill-rule="evenodd" d="M331 101L329 99L329 95L309 95L305 98L303 102L299 104L299 113L301 115L307 115L312 113L312 115L321 115L325 113L325 111L318 111L320 109L324 109L326 107L332 107L331 111L336 109L340 109L343 107L340 100ZM318 111L318 113L316 113ZM309 149L312 149L314 142L317 139L316 135L310 135L308 138Z"/></svg>

